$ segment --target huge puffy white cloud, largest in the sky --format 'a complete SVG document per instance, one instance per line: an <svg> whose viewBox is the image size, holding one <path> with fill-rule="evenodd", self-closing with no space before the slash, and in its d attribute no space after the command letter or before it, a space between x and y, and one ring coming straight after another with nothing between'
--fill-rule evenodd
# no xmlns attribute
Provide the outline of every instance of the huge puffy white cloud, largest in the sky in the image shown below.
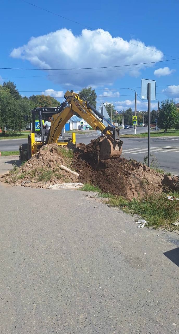
<svg viewBox="0 0 179 334"><path fill-rule="evenodd" d="M162 53L152 51L158 51L156 47L147 45L145 49L145 44L139 40L131 39L130 42L142 47L113 38L102 29L93 31L83 29L81 34L76 36L71 30L64 28L47 35L31 37L26 45L13 49L10 55L13 58L28 60L34 67L50 69L49 75L55 75L49 76L49 79L60 83L63 87L67 83L71 88L104 86L111 85L125 74L138 76L141 68L132 66L126 70L123 67L89 70L51 70L51 68L115 66L163 59ZM74 75L75 72L79 74Z"/></svg>

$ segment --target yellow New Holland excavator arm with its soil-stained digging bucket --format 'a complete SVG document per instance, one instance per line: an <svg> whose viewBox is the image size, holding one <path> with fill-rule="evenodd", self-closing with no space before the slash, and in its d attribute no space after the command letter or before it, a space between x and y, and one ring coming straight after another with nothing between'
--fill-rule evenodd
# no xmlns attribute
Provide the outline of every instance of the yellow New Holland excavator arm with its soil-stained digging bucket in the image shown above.
<svg viewBox="0 0 179 334"><path fill-rule="evenodd" d="M52 116L51 127L45 144L58 142L58 137L63 127L76 112L94 130L101 131L103 138L99 142L99 158L105 160L111 157L119 157L122 153L123 144L119 138L119 128L114 127L102 114L91 106L83 94L67 91L64 97L66 100L60 106L59 113ZM97 116L104 119L109 126L105 127Z"/></svg>

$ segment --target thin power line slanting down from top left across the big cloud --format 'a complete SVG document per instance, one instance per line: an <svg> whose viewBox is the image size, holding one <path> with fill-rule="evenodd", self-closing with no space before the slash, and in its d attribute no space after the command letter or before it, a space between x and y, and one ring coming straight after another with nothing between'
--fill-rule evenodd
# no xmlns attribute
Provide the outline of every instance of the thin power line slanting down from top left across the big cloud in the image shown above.
<svg viewBox="0 0 179 334"><path fill-rule="evenodd" d="M125 43L129 43L129 44L132 44L132 45L136 45L136 46L138 46L138 47L141 47L141 48L143 48L143 49L147 49L147 50L149 50L149 51L153 51L153 52L156 52L156 53L164 54L165 56L173 57L173 56L170 56L170 55L165 54L165 53L163 53L163 52L156 51L156 50L152 50L152 49L149 49L148 47L141 46L141 45L138 45L138 44L135 44L135 43L132 43L132 42L125 41L123 38L120 38L120 37L114 37L114 36L112 36L111 34L107 34L106 32L99 31L99 30L94 29L94 28L92 28L92 27L89 27L89 26L87 26L87 25L85 25L85 24L82 24L82 23L79 23L79 22L77 22L77 21L71 20L71 19L69 19L69 18L67 18L67 17L65 17L65 16L62 16L62 15L59 15L59 14L57 14L57 13L51 12L50 10L47 10L47 9L45 9L45 8L36 6L36 5L34 5L33 3L30 3L30 2L28 2L28 1L25 1L25 0L20 0L20 1L25 2L25 3L28 3L29 5L34 6L34 7L36 7L36 8L42 9L42 10L44 10L44 11L50 13L50 14L59 16L59 17L65 19L65 20L68 20L68 21L70 21L70 22L73 22L73 23L79 24L79 25L81 25L81 26L83 26L83 27L86 27L86 28L92 29L92 30L94 30L94 31L97 31L97 32L99 32L99 33L101 33L101 34L104 34L104 35L107 35L107 36L111 36L112 38L120 39L121 41L123 41L123 42L125 42Z"/></svg>

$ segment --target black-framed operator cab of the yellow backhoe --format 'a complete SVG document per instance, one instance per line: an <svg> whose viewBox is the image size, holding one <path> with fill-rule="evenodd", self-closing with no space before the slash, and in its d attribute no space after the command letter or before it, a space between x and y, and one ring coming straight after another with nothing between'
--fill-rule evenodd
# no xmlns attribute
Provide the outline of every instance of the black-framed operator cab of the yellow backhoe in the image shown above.
<svg viewBox="0 0 179 334"><path fill-rule="evenodd" d="M45 143L47 134L45 134L45 128L43 128L43 125L46 121L48 121L49 117L52 117L54 114L59 113L59 108L38 107L31 110L31 113L32 113L31 128L32 128L32 133L35 134L35 142ZM58 138L58 142L64 142L63 131Z"/></svg>

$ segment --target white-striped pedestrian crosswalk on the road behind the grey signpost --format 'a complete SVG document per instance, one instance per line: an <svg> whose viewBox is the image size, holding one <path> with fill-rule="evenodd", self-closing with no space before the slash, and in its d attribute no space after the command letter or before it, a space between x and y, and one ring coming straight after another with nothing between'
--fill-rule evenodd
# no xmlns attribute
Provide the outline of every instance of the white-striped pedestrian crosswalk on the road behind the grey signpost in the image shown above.
<svg viewBox="0 0 179 334"><path fill-rule="evenodd" d="M173 152L173 153L179 153L179 146L158 146L158 147L151 147L150 149L151 153L164 153L164 152ZM139 154L139 153L148 153L147 147L141 147L141 148L124 148L123 153L125 154Z"/></svg>

